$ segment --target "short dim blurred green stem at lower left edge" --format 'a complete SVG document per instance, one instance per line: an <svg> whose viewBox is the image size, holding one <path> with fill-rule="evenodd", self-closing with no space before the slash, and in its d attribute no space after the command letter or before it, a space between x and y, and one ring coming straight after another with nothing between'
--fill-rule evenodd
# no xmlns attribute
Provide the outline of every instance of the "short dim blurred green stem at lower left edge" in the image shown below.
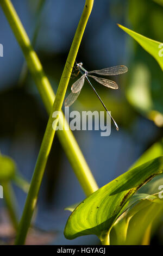
<svg viewBox="0 0 163 256"><path fill-rule="evenodd" d="M7 205L7 209L9 212L9 217L11 220L11 223L15 230L17 230L18 227L18 220L17 220L17 214L16 214L16 198L14 196L14 191L12 189L12 186L10 182L6 181L3 182L3 194L4 194L4 200Z"/></svg>

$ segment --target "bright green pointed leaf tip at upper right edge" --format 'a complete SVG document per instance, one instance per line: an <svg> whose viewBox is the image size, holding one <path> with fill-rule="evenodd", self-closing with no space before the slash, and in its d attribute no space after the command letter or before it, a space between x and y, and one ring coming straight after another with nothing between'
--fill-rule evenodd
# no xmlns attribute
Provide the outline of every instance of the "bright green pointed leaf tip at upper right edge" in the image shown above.
<svg viewBox="0 0 163 256"><path fill-rule="evenodd" d="M130 29L123 27L122 25L118 26L123 29L126 33L128 33L132 38L134 38L139 44L149 53L151 54L161 66L163 70L163 43L154 41L146 36L138 34Z"/></svg>

